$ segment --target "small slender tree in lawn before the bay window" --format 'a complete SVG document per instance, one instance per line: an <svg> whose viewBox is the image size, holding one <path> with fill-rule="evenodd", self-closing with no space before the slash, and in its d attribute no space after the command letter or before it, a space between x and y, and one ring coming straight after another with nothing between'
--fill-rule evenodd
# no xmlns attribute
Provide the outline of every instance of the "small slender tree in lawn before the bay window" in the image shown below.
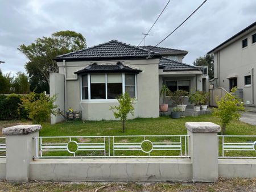
<svg viewBox="0 0 256 192"><path fill-rule="evenodd" d="M132 99L130 95L127 92L125 92L124 94L118 96L117 101L119 103L119 106L111 106L110 110L113 110L115 119L121 119L123 132L125 132L125 121L127 120L127 116L129 113L133 115L134 99Z"/></svg>

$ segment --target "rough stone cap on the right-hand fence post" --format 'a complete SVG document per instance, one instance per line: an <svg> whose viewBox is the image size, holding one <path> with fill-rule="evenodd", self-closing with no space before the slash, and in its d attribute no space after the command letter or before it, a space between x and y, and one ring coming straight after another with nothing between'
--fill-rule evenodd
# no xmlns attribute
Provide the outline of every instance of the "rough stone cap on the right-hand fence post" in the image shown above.
<svg viewBox="0 0 256 192"><path fill-rule="evenodd" d="M185 127L192 133L217 133L221 131L220 126L212 122L187 122Z"/></svg>

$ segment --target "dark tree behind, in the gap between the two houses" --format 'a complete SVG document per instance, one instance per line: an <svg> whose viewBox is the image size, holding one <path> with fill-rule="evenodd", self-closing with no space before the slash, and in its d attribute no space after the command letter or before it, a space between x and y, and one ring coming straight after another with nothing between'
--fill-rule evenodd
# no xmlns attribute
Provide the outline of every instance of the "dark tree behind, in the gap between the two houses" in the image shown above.
<svg viewBox="0 0 256 192"><path fill-rule="evenodd" d="M197 58L194 62L193 65L195 66L208 66L208 76L209 79L214 78L214 65L213 65L213 55L207 54L203 57Z"/></svg>

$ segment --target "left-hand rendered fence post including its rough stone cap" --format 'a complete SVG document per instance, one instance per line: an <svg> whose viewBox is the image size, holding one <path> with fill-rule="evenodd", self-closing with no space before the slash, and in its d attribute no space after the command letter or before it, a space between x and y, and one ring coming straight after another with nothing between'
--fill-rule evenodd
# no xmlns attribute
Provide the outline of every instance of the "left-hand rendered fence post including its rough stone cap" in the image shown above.
<svg viewBox="0 0 256 192"><path fill-rule="evenodd" d="M29 165L36 153L33 137L39 136L40 125L19 125L3 128L6 136L6 180L27 182Z"/></svg>

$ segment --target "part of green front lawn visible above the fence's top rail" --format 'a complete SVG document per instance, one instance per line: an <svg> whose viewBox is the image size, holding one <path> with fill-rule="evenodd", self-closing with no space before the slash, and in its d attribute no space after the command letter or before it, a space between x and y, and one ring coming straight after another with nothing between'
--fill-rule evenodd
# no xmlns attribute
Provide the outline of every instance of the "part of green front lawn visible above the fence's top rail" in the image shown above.
<svg viewBox="0 0 256 192"><path fill-rule="evenodd" d="M220 122L213 115L187 116L180 119L127 120L125 133L119 121L74 121L72 123L43 124L40 136L102 136L102 135L186 135L185 122ZM226 135L255 135L256 126L234 121L226 128Z"/></svg>

